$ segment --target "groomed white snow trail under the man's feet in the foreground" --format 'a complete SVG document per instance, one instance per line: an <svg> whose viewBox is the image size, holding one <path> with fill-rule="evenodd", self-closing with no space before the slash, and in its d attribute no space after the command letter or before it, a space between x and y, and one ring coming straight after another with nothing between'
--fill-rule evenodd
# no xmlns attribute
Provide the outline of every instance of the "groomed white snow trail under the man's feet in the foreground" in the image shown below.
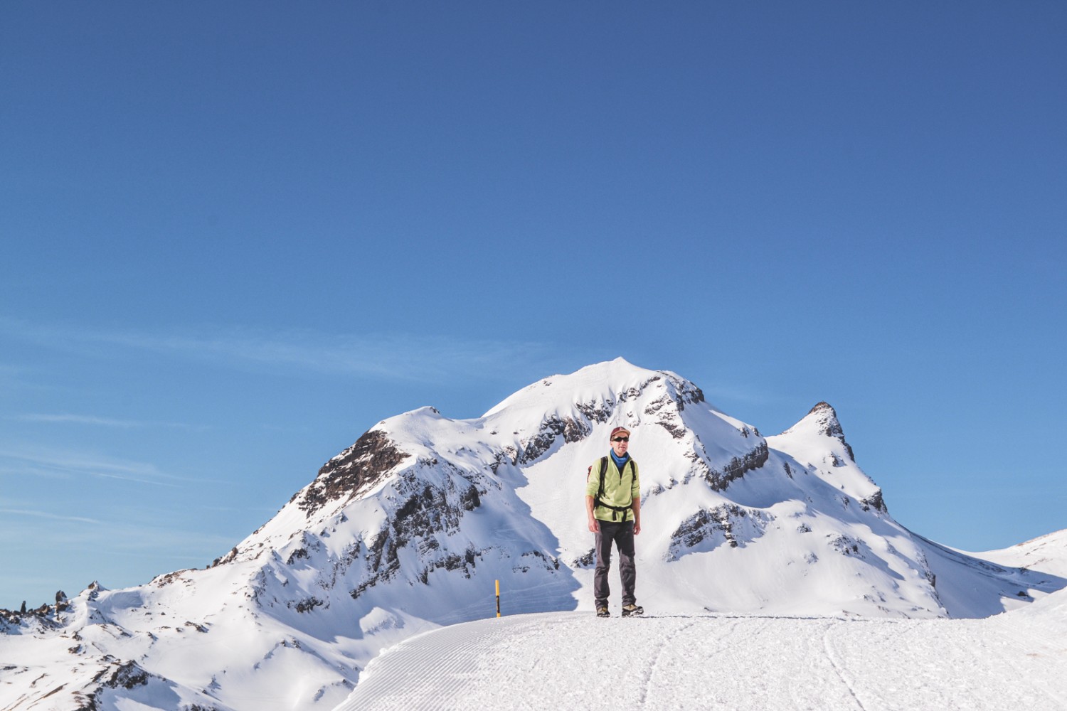
<svg viewBox="0 0 1067 711"><path fill-rule="evenodd" d="M1067 709L1067 640L1004 619L544 613L375 659L335 711Z"/></svg>

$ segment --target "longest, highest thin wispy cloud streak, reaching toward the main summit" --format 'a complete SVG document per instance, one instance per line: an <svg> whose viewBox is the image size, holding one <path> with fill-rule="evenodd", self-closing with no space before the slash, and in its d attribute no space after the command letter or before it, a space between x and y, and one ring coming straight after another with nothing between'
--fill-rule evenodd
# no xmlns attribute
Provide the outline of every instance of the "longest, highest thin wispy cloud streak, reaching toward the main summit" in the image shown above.
<svg viewBox="0 0 1067 711"><path fill-rule="evenodd" d="M248 328L197 333L106 332L57 328L0 319L7 336L64 350L147 351L236 368L355 375L398 381L505 376L516 365L553 354L545 344L413 334L264 333Z"/></svg>

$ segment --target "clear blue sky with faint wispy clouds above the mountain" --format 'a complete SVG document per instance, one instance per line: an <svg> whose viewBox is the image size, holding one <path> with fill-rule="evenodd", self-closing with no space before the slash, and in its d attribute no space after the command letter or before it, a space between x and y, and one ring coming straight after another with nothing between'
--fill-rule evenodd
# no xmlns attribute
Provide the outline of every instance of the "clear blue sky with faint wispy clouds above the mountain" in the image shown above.
<svg viewBox="0 0 1067 711"><path fill-rule="evenodd" d="M1067 6L9 2L0 607L624 356L890 513L1065 528Z"/></svg>

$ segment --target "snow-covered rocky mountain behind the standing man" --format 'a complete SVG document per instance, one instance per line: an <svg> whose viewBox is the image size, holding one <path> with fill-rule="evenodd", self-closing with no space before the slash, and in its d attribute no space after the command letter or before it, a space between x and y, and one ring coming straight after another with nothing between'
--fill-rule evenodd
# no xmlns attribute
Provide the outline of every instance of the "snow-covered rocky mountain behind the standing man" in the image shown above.
<svg viewBox="0 0 1067 711"><path fill-rule="evenodd" d="M830 405L764 437L681 376L618 359L474 420L379 422L206 569L5 614L0 706L332 709L380 649L494 616L496 580L508 615L591 610L584 486L620 424L648 610L971 617L1067 585L1038 558L976 558L896 523ZM1067 561L1065 546L1041 555Z"/></svg>

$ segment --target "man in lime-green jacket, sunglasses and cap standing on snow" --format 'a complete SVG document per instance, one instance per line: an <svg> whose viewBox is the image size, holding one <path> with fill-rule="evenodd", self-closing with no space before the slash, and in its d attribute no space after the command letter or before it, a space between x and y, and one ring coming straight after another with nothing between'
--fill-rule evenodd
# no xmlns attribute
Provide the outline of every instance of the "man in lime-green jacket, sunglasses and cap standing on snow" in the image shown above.
<svg viewBox="0 0 1067 711"><path fill-rule="evenodd" d="M607 598L611 594L607 573L611 569L611 542L619 549L619 578L622 580L622 616L640 615L634 597L637 568L634 565L634 536L641 532L641 485L637 463L626 452L630 430L616 427L608 435L611 450L589 467L586 474L586 514L589 530L596 535L596 571L593 596L596 616L610 617Z"/></svg>

